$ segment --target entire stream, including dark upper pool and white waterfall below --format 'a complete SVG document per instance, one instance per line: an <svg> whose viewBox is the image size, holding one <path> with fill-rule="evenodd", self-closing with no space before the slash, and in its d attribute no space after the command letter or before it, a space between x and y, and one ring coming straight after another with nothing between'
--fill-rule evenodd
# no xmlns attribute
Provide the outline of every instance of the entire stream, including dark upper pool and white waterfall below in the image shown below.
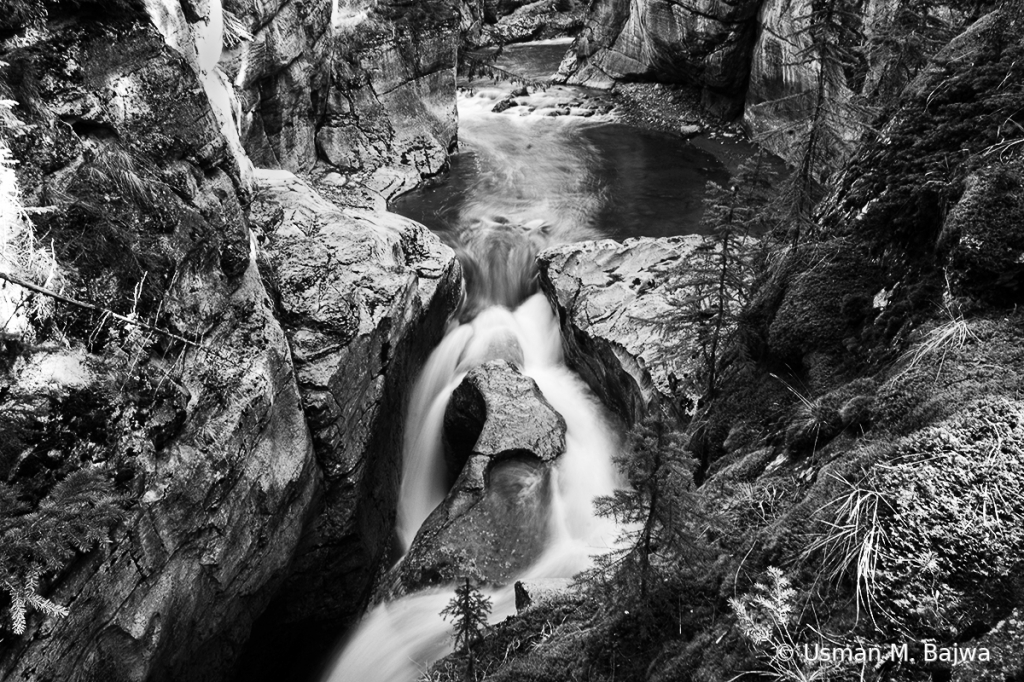
<svg viewBox="0 0 1024 682"><path fill-rule="evenodd" d="M565 42L506 49L501 66L530 78L554 73ZM598 104L598 93L551 87L493 113L516 88L486 80L460 93L460 153L439 186L399 199L392 210L425 223L452 246L466 273L459 319L428 359L410 399L397 536L408 550L447 493L441 430L452 392L472 368L514 357L566 424L566 446L544 505L544 550L520 579L570 578L618 535L594 514L595 497L624 484L613 465L620 426L562 357L558 321L538 292L537 254L595 239L697 230L708 180L729 173L708 151L649 133L613 115L558 115ZM600 108L597 108L600 112ZM325 682L413 682L452 649L439 612L452 587L373 607L344 643ZM493 623L515 612L512 585L485 591Z"/></svg>

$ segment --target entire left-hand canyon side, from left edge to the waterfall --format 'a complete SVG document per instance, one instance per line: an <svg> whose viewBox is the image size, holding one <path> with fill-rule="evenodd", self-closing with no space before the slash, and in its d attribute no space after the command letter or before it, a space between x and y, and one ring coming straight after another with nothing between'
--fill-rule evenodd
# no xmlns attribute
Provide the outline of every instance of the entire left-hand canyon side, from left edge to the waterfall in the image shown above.
<svg viewBox="0 0 1024 682"><path fill-rule="evenodd" d="M71 615L5 638L0 677L225 679L275 594L265 622L339 626L389 547L402 395L461 274L422 226L343 206L443 165L454 42L407 22L343 51L330 3L50 12L0 44L47 286L164 332L56 304L4 337L4 479L43 495L85 468L128 502L109 551L46 576ZM327 164L339 203L246 148Z"/></svg>

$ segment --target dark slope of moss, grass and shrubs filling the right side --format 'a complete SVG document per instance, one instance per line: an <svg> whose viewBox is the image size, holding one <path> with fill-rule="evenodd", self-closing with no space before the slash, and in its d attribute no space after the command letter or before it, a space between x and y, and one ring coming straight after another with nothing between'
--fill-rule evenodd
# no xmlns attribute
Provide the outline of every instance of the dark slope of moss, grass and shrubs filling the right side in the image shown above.
<svg viewBox="0 0 1024 682"><path fill-rule="evenodd" d="M700 460L702 483L634 481L631 551L665 560L612 557L502 624L486 679L1024 676L1022 35L1008 3L942 50L796 245L786 207L762 211L774 246L708 370L719 388L665 455ZM660 496L700 513L648 536ZM925 655L952 646L993 648Z"/></svg>

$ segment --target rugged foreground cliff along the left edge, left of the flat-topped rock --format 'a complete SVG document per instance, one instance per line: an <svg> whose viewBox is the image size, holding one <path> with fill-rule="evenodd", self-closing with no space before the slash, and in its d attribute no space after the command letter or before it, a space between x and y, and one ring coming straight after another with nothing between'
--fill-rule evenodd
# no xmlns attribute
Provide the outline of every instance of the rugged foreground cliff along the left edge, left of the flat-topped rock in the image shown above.
<svg viewBox="0 0 1024 682"><path fill-rule="evenodd" d="M44 407L37 418L0 406L26 427L5 434L17 439L8 482L30 466L110 470L132 502L109 552L80 557L50 593L70 615L4 638L0 677L222 679L318 485L243 178L196 72L153 27L65 17L2 57L3 98L20 102L3 133L26 203L52 207L36 228L63 293L204 349L58 307L76 348L30 354L4 377ZM71 384L40 384L53 361ZM50 417L79 420L63 422L67 447L39 439Z"/></svg>

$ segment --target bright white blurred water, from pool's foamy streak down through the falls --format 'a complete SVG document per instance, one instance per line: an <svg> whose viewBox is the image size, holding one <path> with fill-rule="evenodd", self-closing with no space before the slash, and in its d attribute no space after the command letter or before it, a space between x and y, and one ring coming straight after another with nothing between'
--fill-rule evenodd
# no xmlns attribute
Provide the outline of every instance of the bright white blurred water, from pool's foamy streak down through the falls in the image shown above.
<svg viewBox="0 0 1024 682"><path fill-rule="evenodd" d="M498 93L500 95L501 92ZM558 322L537 293L537 253L595 239L604 201L588 173L598 152L579 137L581 119L516 117L496 126L496 93L460 102L461 137L474 151L477 182L447 235L467 272L467 300L426 364L406 424L398 535L406 549L446 493L441 446L444 409L472 368L502 358L532 378L566 424L547 505L546 549L521 579L569 578L608 551L614 524L593 501L622 481L612 463L620 439L604 409L563 361ZM453 591L421 592L370 611L328 676L330 682L412 682L450 651L439 612ZM514 611L511 588L490 592L493 621Z"/></svg>

